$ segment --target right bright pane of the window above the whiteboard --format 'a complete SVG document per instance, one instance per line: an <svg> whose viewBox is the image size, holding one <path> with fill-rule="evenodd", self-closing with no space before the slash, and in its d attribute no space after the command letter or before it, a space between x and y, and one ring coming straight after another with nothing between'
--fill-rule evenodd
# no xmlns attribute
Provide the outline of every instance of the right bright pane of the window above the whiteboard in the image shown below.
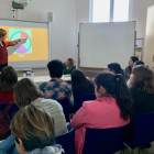
<svg viewBox="0 0 154 154"><path fill-rule="evenodd" d="M129 20L129 3L130 0L114 0L113 21L128 21Z"/></svg>

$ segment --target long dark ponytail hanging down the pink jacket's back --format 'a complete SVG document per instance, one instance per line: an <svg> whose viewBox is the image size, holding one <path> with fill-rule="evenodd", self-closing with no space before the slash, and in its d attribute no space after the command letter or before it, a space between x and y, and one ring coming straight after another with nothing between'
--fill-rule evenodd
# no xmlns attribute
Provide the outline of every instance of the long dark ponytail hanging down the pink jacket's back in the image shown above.
<svg viewBox="0 0 154 154"><path fill-rule="evenodd" d="M118 81L117 87L117 103L121 110L121 118L124 120L128 120L131 118L132 114L132 99L131 99L131 92L125 84L124 78L121 75L114 75L114 78Z"/></svg>

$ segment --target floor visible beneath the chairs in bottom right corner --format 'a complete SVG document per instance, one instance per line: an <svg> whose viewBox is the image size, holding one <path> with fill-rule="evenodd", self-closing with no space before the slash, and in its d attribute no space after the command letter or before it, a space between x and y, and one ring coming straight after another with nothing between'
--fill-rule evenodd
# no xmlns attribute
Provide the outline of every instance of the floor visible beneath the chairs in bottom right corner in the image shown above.
<svg viewBox="0 0 154 154"><path fill-rule="evenodd" d="M141 150L140 154L154 154L154 142L152 143L153 146L148 150ZM138 148L135 148L134 154L138 154ZM120 152L116 153L116 154L120 154ZM128 150L124 151L123 154L130 154L130 152Z"/></svg>

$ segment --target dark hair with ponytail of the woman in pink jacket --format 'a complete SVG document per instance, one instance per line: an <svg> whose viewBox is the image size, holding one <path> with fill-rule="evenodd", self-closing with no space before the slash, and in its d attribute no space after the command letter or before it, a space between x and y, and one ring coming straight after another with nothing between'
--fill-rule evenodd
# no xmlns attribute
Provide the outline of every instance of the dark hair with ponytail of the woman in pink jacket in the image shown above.
<svg viewBox="0 0 154 154"><path fill-rule="evenodd" d="M96 76L95 84L97 85L97 90L99 90L100 86L102 86L107 91L106 97L111 96L117 100L121 110L121 118L124 120L132 118L133 101L127 82L121 75L103 72Z"/></svg>

